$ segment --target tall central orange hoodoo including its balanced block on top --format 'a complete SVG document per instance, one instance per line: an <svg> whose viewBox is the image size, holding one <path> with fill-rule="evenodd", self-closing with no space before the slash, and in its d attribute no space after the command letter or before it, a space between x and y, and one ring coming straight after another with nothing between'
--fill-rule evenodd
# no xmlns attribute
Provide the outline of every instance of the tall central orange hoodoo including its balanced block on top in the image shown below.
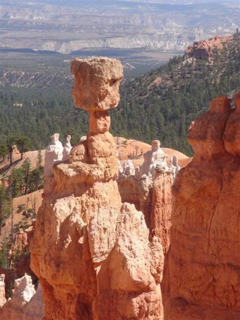
<svg viewBox="0 0 240 320"><path fill-rule="evenodd" d="M30 245L46 319L162 319L163 248L149 242L142 212L118 192L108 109L119 101L121 62L74 60L77 108L90 112L86 139L54 165Z"/></svg>

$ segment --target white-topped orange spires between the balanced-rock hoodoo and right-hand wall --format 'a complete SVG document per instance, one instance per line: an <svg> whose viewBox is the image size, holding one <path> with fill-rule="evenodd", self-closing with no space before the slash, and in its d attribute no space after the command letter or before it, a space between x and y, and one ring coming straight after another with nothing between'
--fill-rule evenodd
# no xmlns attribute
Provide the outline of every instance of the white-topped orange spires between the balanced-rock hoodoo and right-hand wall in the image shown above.
<svg viewBox="0 0 240 320"><path fill-rule="evenodd" d="M144 212L150 239L154 235L160 237L164 253L167 253L170 244L171 187L180 167L176 156L171 158L168 167L167 155L160 146L160 141L153 140L151 150L144 154L144 161L137 168L131 160L127 160L123 168L120 167L117 184L122 200Z"/></svg>

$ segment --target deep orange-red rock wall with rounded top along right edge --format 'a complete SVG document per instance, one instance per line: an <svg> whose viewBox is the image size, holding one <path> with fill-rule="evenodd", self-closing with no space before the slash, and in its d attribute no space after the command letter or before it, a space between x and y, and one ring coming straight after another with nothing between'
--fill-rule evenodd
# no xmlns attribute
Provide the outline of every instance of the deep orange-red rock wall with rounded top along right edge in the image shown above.
<svg viewBox="0 0 240 320"><path fill-rule="evenodd" d="M170 296L228 310L229 317L212 313L218 319L240 314L239 100L238 93L231 109L217 97L194 121L188 141L195 156L173 185Z"/></svg>

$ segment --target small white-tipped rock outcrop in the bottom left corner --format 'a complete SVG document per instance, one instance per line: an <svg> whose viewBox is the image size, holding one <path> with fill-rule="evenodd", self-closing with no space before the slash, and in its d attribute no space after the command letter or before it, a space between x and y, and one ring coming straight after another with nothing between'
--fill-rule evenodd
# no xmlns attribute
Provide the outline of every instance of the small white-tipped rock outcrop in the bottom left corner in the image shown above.
<svg viewBox="0 0 240 320"><path fill-rule="evenodd" d="M25 274L15 280L13 297L0 309L2 320L41 320L44 317L41 286L35 291L32 279Z"/></svg>

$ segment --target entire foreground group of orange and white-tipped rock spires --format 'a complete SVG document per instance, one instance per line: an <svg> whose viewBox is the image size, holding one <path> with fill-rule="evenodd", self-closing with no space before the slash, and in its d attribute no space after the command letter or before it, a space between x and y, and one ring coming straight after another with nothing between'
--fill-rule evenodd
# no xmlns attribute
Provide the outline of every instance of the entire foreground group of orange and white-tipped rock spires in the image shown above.
<svg viewBox="0 0 240 320"><path fill-rule="evenodd" d="M240 93L235 109L217 97L191 124L195 156L185 168L175 156L167 165L158 140L142 165L122 167L108 115L119 102L121 62L75 59L71 72L75 105L90 124L72 148L70 136L63 148L54 134L46 150L30 243L44 318L238 320ZM2 312L20 310L22 296L5 302L3 283L1 276ZM18 287L32 292L23 307L30 314L39 296L26 276Z"/></svg>

